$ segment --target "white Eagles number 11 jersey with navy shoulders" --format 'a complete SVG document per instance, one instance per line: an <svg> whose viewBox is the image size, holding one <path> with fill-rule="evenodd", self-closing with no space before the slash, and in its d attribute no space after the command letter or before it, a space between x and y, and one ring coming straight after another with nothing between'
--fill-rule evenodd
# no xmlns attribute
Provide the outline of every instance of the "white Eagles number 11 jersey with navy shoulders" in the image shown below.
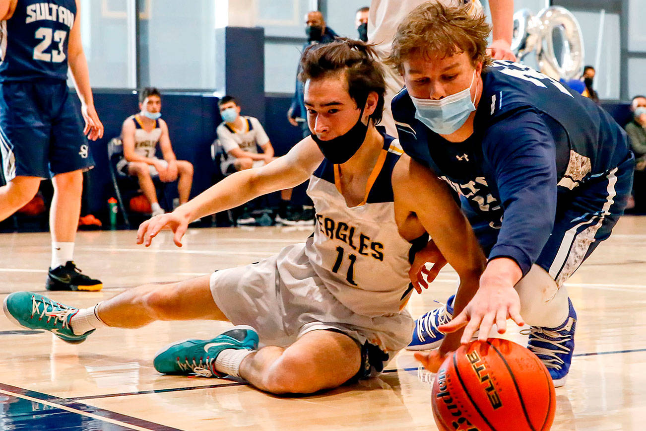
<svg viewBox="0 0 646 431"><path fill-rule="evenodd" d="M393 167L401 155L398 147L397 140L384 136L366 198L355 207L348 207L337 187L339 165L327 159L311 176L307 189L316 210L307 258L339 302L370 317L399 313L411 291L408 269L413 245L397 231L391 185ZM426 245L425 237L420 240Z"/></svg>

